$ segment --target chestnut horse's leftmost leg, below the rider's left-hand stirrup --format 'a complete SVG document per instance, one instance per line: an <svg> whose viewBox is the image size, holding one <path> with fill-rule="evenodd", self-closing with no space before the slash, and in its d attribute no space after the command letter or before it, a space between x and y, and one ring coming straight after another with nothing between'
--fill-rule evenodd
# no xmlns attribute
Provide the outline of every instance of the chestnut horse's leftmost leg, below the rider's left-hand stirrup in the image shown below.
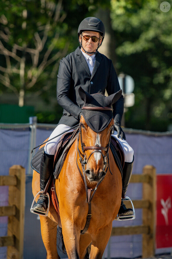
<svg viewBox="0 0 172 259"><path fill-rule="evenodd" d="M47 250L47 259L60 259L57 253L57 223L48 217L40 216L41 235Z"/></svg>

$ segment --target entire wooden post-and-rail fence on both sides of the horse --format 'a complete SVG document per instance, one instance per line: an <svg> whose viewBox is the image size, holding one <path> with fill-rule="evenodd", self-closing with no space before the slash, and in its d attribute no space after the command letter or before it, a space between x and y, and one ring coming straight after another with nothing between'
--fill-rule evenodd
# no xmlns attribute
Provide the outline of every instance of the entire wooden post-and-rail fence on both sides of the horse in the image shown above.
<svg viewBox="0 0 172 259"><path fill-rule="evenodd" d="M142 257L155 254L155 186L156 170L144 166L143 174L133 174L130 182L143 183L143 199L134 200L135 209L143 209L143 225L113 227L111 235L143 234ZM12 166L8 176L0 176L0 185L9 186L9 205L0 207L0 216L8 216L7 236L0 237L0 246L7 246L7 259L23 258L24 208L25 208L25 169ZM125 202L126 206L127 202ZM136 215L137 216L137 215Z"/></svg>

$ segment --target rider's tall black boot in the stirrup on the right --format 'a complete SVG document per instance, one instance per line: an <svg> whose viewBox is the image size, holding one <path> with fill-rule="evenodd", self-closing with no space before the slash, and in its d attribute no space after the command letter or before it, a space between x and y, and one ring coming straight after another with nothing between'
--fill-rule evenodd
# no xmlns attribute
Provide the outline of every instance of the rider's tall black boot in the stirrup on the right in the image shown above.
<svg viewBox="0 0 172 259"><path fill-rule="evenodd" d="M134 157L133 157L133 161L134 161ZM126 194L128 184L130 182L132 170L133 170L133 162L131 163L125 162L124 168L123 168L123 174L122 174L122 187L124 191L124 196ZM127 209L125 204L121 202L118 216L128 216L128 215L133 215L133 209Z"/></svg>

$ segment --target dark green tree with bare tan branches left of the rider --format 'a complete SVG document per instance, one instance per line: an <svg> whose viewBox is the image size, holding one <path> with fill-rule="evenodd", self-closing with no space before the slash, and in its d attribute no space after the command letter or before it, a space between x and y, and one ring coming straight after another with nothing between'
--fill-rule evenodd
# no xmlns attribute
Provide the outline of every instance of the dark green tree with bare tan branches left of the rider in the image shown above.
<svg viewBox="0 0 172 259"><path fill-rule="evenodd" d="M14 93L21 107L31 94L47 104L56 99L60 59L78 46L77 28L82 19L106 2L109 4L103 0L1 0L0 94ZM37 111L39 122L57 122L53 118L58 109L55 105L54 115Z"/></svg>

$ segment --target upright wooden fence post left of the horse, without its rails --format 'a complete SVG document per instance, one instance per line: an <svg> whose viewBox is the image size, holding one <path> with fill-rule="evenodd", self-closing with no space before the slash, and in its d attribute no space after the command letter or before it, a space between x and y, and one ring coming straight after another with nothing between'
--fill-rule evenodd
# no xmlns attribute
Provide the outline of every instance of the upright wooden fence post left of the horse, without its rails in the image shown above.
<svg viewBox="0 0 172 259"><path fill-rule="evenodd" d="M15 246L8 246L7 259L23 258L24 212L25 212L25 168L14 165L9 168L9 175L17 178L16 186L9 186L9 206L15 205L15 216L8 217L8 236L14 237Z"/></svg>

